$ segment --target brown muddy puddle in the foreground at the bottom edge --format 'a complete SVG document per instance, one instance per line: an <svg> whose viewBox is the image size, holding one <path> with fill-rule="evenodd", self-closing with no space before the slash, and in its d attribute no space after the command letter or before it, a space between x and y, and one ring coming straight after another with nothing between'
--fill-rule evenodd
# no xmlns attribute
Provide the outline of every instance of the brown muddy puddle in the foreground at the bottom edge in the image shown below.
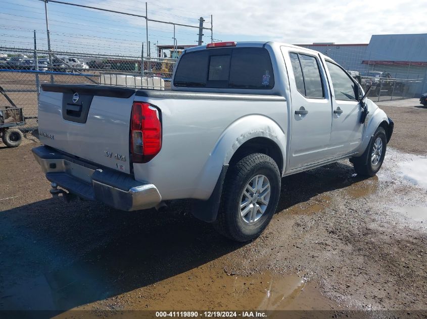
<svg viewBox="0 0 427 319"><path fill-rule="evenodd" d="M88 304L77 309L96 310ZM329 310L339 305L305 275L227 274L208 265L102 301L109 310Z"/></svg>

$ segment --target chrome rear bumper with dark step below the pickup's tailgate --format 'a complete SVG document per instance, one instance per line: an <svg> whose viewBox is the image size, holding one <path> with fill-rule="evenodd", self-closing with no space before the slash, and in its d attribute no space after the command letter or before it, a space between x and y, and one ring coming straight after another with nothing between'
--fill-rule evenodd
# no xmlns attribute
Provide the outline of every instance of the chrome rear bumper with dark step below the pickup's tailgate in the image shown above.
<svg viewBox="0 0 427 319"><path fill-rule="evenodd" d="M153 208L162 201L155 185L135 181L130 175L97 168L46 146L32 152L48 180L82 199L123 211Z"/></svg>

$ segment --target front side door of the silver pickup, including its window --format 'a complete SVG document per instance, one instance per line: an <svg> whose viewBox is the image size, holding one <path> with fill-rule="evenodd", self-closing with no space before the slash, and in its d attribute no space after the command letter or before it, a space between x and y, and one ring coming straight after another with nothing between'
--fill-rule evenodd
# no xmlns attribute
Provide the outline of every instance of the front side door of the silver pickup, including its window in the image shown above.
<svg viewBox="0 0 427 319"><path fill-rule="evenodd" d="M362 108L356 98L359 88L353 79L336 63L325 62L334 95L330 145L336 150L335 157L339 157L354 152L362 141Z"/></svg>

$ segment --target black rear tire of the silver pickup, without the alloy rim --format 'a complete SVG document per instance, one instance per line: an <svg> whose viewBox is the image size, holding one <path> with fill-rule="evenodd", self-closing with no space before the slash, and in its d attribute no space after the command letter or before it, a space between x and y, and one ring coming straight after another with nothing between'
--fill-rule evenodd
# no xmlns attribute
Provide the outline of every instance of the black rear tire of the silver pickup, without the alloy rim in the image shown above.
<svg viewBox="0 0 427 319"><path fill-rule="evenodd" d="M270 183L270 198L259 219L248 223L241 215L241 200L247 184L257 175L267 177ZM248 155L230 167L227 172L221 206L213 226L219 233L235 241L245 242L254 239L261 234L273 217L279 197L280 172L276 162L265 154Z"/></svg>

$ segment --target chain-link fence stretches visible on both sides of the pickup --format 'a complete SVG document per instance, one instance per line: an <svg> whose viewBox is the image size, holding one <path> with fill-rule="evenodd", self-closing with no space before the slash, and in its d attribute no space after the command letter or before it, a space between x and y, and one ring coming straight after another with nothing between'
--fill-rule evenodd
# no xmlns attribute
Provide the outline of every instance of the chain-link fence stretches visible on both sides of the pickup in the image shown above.
<svg viewBox="0 0 427 319"><path fill-rule="evenodd" d="M2 48L10 59L0 64L0 87L17 107L23 108L24 129L37 127L39 87L53 84L100 84L134 88L170 89L177 58L149 58L131 55L101 55L65 51L38 51ZM48 55L51 54L52 66ZM176 52L179 56L180 52ZM38 70L37 70L38 69ZM369 97L373 101L386 101L419 97L425 79L395 78L388 72L349 71L363 87L371 86ZM5 96L0 96L0 109L11 107Z"/></svg>

